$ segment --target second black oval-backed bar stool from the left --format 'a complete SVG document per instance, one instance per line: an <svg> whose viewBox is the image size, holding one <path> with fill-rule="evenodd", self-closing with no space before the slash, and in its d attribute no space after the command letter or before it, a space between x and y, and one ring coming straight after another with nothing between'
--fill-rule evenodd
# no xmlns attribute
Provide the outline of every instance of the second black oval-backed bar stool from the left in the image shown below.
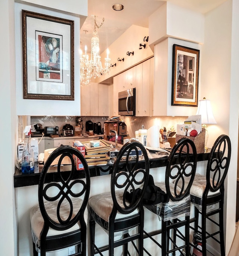
<svg viewBox="0 0 239 256"><path fill-rule="evenodd" d="M140 152L144 161L140 161ZM130 159L131 155L135 155ZM143 256L143 195L149 179L149 159L145 147L138 141L124 144L118 153L111 174L111 191L89 199L91 256L123 246L128 255L128 242ZM141 187L142 186L142 187ZM130 193L131 202L127 195ZM108 245L98 247L95 243L95 225L98 223L108 234ZM134 229L132 234L130 231ZM115 240L115 236L120 239ZM138 248L134 240L139 240ZM98 243L99 244L99 243Z"/></svg>

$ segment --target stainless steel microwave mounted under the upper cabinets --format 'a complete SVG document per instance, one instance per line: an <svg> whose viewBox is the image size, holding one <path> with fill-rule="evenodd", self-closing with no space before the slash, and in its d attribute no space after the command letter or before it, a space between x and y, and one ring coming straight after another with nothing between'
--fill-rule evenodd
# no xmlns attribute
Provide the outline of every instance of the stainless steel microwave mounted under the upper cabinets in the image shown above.
<svg viewBox="0 0 239 256"><path fill-rule="evenodd" d="M135 116L136 114L136 88L119 92L119 115Z"/></svg>

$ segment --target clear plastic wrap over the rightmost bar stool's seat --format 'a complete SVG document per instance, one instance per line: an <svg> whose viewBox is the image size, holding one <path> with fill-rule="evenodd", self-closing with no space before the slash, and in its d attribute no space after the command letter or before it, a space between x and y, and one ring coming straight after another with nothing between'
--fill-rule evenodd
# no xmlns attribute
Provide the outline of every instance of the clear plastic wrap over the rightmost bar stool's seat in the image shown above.
<svg viewBox="0 0 239 256"><path fill-rule="evenodd" d="M184 178L185 186L187 186L187 184L189 183L189 180L190 179L188 177ZM210 179L210 182L212 184L212 179ZM193 180L192 187L190 189L190 195L191 195L192 204L195 205L195 207L197 207L199 211L202 211L202 195L205 191L206 184L207 184L206 177L202 174L196 173L195 178ZM179 187L182 186L181 180L179 181L178 186ZM216 195L217 193L218 192L209 191L208 196ZM217 204L208 205L207 212L212 211L217 207L218 207Z"/></svg>

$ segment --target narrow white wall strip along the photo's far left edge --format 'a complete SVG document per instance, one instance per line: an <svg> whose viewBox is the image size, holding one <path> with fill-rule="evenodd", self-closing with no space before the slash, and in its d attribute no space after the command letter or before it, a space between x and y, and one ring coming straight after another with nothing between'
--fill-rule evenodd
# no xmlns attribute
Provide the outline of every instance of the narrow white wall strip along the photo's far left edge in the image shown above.
<svg viewBox="0 0 239 256"><path fill-rule="evenodd" d="M0 1L1 61L0 61L0 255L17 255L15 197L16 85L14 0ZM11 140L12 138L12 140Z"/></svg>

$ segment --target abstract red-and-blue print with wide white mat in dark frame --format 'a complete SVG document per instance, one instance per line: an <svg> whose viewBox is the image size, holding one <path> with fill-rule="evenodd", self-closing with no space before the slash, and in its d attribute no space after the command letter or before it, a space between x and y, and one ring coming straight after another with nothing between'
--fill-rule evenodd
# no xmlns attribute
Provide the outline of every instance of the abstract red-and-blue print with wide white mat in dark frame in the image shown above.
<svg viewBox="0 0 239 256"><path fill-rule="evenodd" d="M74 100L74 21L22 10L23 97Z"/></svg>

